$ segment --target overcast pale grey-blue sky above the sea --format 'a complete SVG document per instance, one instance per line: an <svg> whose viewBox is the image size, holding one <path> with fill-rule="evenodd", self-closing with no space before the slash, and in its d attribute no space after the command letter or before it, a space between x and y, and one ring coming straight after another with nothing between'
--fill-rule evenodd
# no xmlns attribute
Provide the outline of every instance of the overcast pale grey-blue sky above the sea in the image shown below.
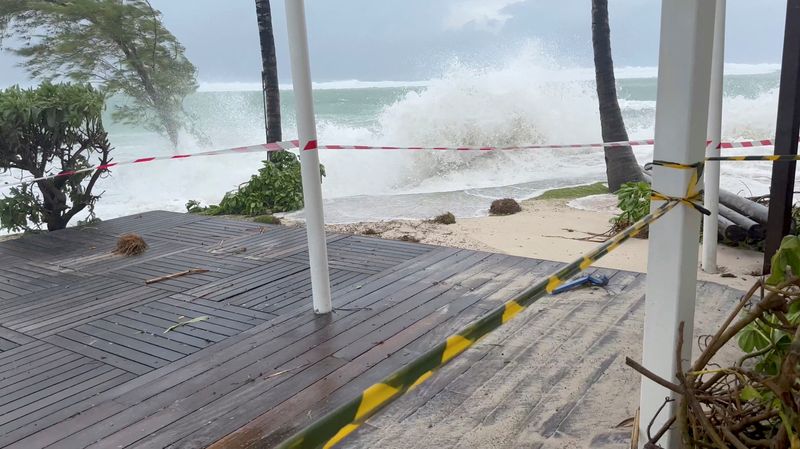
<svg viewBox="0 0 800 449"><path fill-rule="evenodd" d="M257 82L253 0L152 0L204 82ZM282 82L289 81L283 0L272 1ZM654 66L661 2L610 0L619 66ZM424 80L454 57L506 58L539 40L566 66L591 66L590 0L307 0L315 81ZM780 62L785 0L728 0L726 61ZM25 83L7 53L0 86Z"/></svg>

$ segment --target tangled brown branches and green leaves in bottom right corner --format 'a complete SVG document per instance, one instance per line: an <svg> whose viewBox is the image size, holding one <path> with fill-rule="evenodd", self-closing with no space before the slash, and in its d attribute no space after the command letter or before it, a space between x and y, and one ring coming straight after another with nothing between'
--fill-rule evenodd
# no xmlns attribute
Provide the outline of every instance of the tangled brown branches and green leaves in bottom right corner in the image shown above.
<svg viewBox="0 0 800 449"><path fill-rule="evenodd" d="M655 416L642 416L648 429L656 418L665 422L658 431L653 427L652 436L642 435L648 438L644 447L661 447L658 442L670 428L678 432L682 447L800 447L798 308L800 278L787 276L773 284L760 279L727 318L721 317L714 335L697 340L702 352L690 366L681 360L684 322L679 324L675 354L664 354L678 361L677 382L626 358L626 365L677 396L666 399L676 401L669 419L658 416L663 405ZM738 360L721 364L717 355L729 343L738 343L743 352Z"/></svg>

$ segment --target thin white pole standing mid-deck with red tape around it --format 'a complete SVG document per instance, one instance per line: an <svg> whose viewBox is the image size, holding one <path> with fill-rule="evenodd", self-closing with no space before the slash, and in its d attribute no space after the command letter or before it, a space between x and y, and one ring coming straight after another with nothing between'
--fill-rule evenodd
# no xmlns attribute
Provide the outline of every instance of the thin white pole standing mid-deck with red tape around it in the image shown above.
<svg viewBox="0 0 800 449"><path fill-rule="evenodd" d="M314 99L311 93L304 0L286 0L286 21L297 111L297 135L300 139L311 292L314 297L314 312L322 314L329 313L332 309L331 281L328 273L328 247L325 242L325 218L322 211L322 180L319 172L319 154L316 149L317 124L314 120Z"/></svg>

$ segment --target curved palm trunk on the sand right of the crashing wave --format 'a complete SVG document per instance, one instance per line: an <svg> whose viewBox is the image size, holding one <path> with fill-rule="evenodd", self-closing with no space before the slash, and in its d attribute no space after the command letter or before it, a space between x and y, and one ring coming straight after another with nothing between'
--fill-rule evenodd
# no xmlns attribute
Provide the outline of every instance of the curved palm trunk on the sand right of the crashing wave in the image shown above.
<svg viewBox="0 0 800 449"><path fill-rule="evenodd" d="M611 28L608 25L608 0L592 0L592 47L600 126L604 142L628 140L622 111L617 101L614 61L611 59ZM643 181L641 168L631 147L606 148L608 189L616 192L626 182Z"/></svg>

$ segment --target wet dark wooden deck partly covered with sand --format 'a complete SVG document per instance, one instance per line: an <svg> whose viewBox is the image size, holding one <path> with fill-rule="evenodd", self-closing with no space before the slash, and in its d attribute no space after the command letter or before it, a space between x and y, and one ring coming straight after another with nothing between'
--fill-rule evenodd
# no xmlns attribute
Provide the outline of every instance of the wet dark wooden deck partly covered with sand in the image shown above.
<svg viewBox="0 0 800 449"><path fill-rule="evenodd" d="M112 254L126 232L149 250ZM149 212L0 243L0 447L269 447L558 266L361 236L328 243L335 309L323 317L311 312L304 229ZM209 271L145 285L191 268ZM453 423L469 435L491 429L489 415L522 410L547 421L545 440L577 426L559 403L528 410L497 382L534 378L526 385L557 393L553 379L566 377L574 393L554 398L574 410L605 373L623 370L620 358L639 352L643 276L602 272L611 293L543 301L349 444L405 447L408 431L441 425L440 445L463 446L473 439L453 439ZM633 404L636 386L614 404ZM497 407L505 415L489 413ZM548 415L554 407L560 414ZM620 405L608 418L630 413ZM501 446L530 446L515 441Z"/></svg>

